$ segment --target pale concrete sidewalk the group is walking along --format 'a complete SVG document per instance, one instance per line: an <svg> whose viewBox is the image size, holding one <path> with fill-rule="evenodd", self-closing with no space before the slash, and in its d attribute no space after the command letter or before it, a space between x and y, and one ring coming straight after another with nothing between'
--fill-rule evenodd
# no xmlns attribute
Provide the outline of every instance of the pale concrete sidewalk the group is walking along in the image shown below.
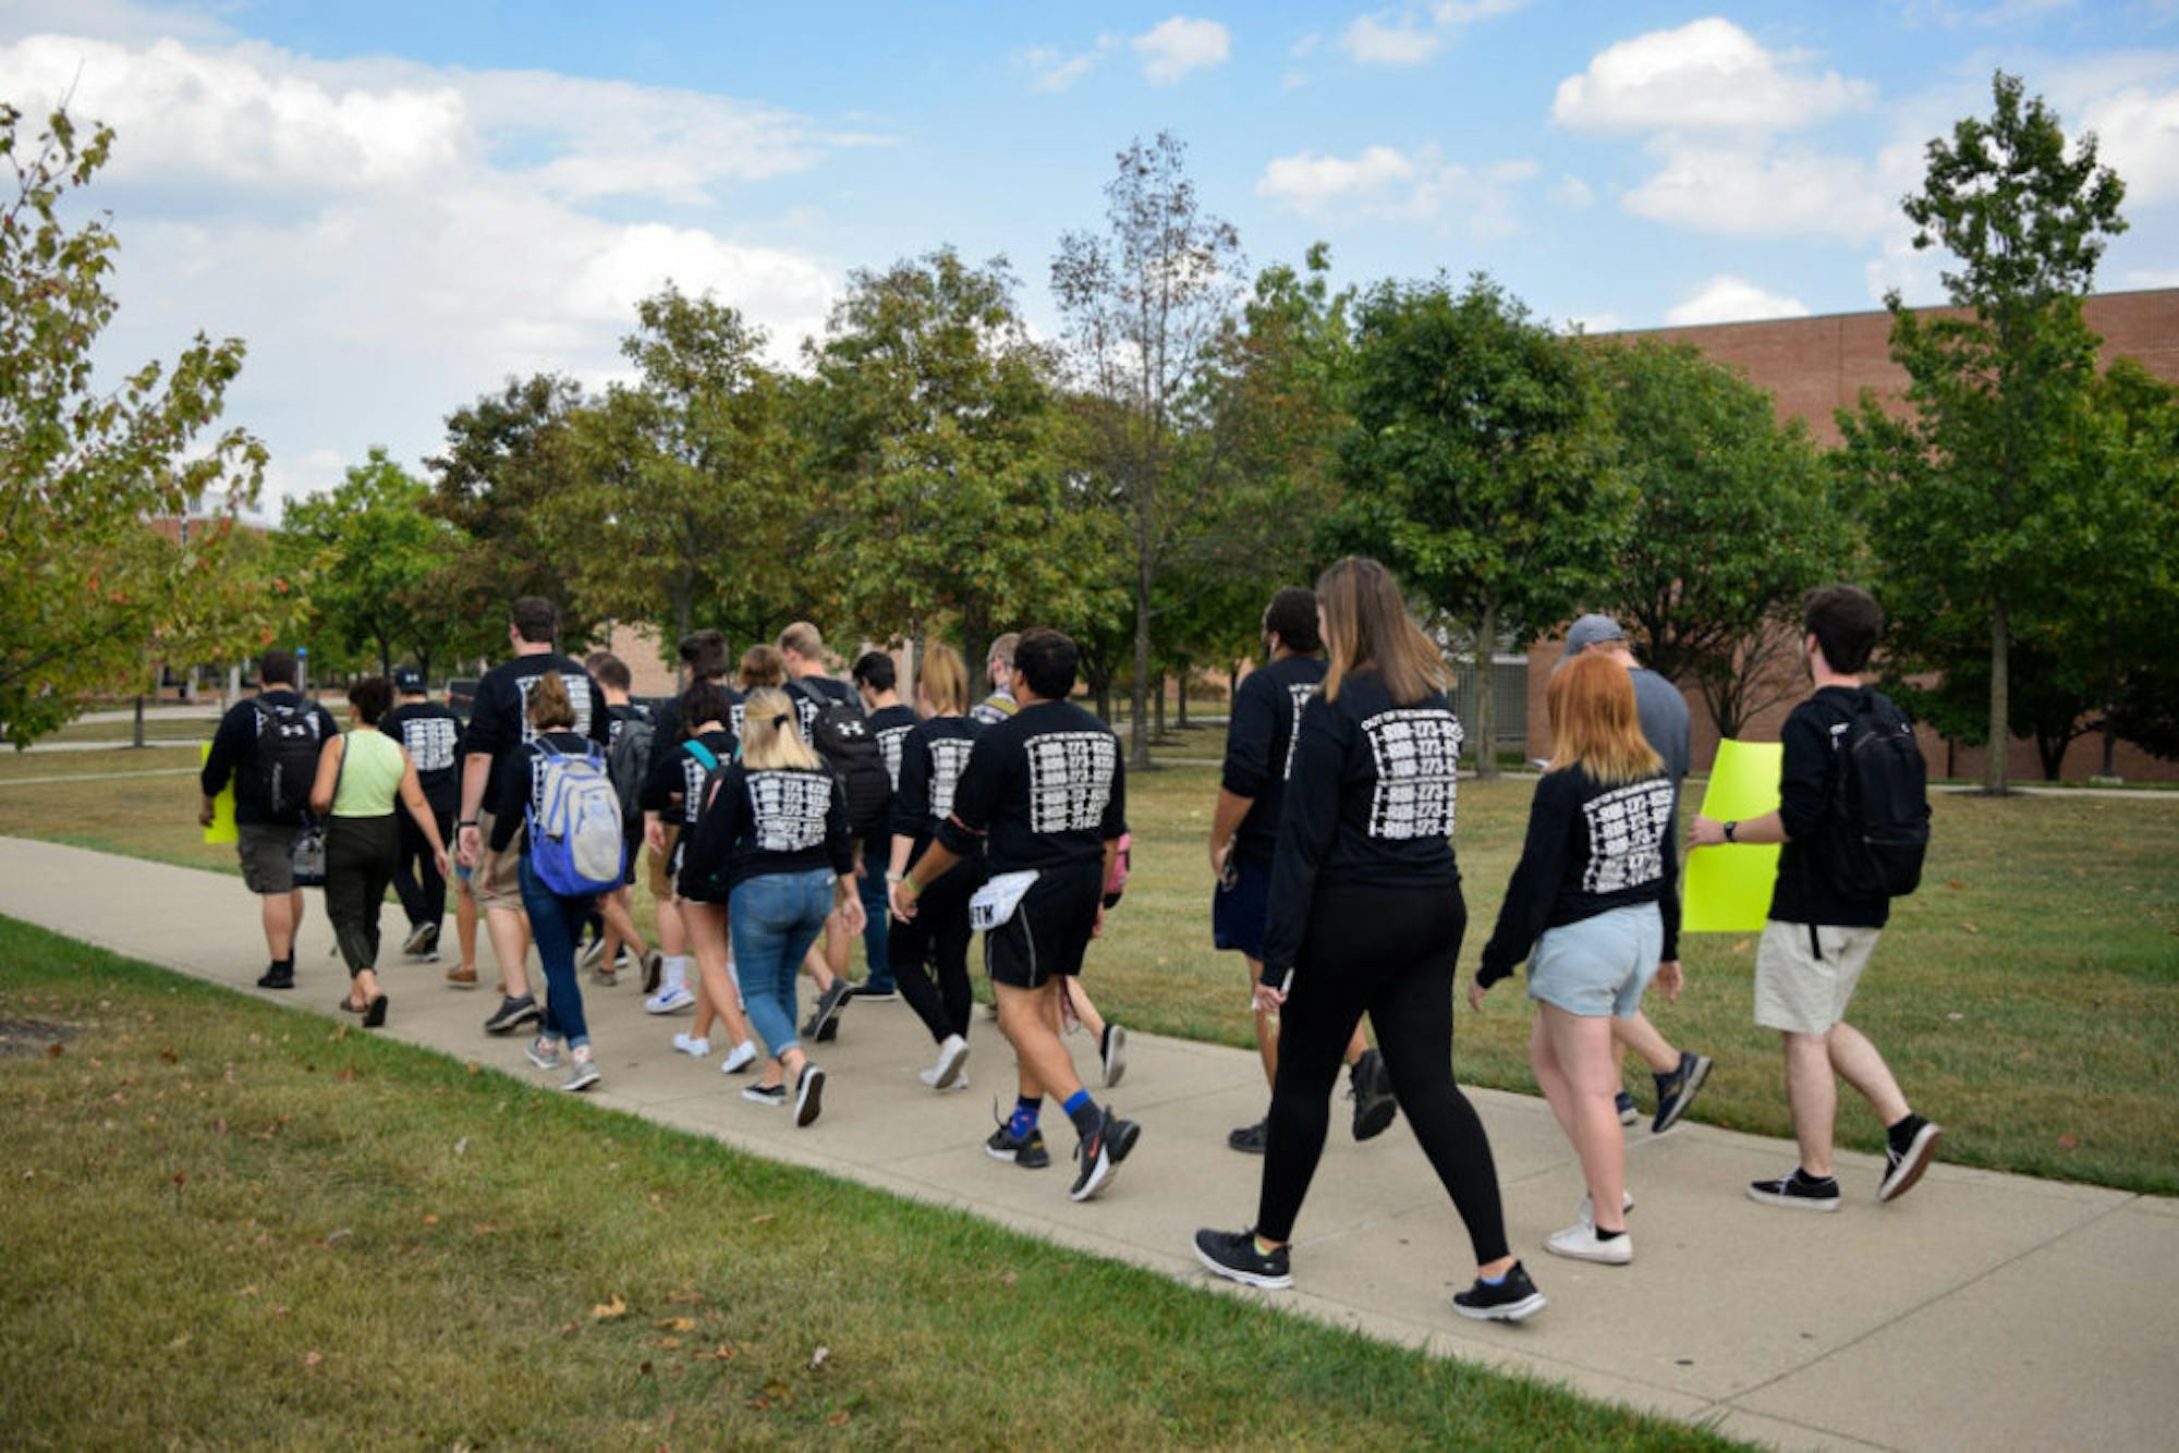
<svg viewBox="0 0 2179 1453"><path fill-rule="evenodd" d="M238 878L0 839L0 913L261 993L251 980L264 941ZM399 939L394 908L388 937ZM331 1017L346 976L329 943L312 904L303 987L264 998ZM488 991L458 993L436 965L403 963L386 985L388 1035L538 1078L521 1039L479 1033L497 1002ZM915 1080L933 1046L906 1004L850 1004L821 1057L824 1120L795 1131L780 1111L741 1100L743 1080L723 1078L717 1059L673 1054L684 1017L645 1015L630 978L586 985L584 1002L606 1072L601 1104L741 1150L1205 1285L1194 1229L1255 1213L1262 1161L1225 1148L1227 1131L1264 1109L1249 1052L1133 1035L1124 1083L1096 1094L1142 1122L1142 1144L1105 1196L1072 1205L1072 1135L1057 1115L1046 1115L1046 1172L978 1150L991 1100L1013 1096L1011 1057L987 1019L972 1033L974 1087L935 1096ZM1092 1046L1074 1043L1094 1078ZM2175 1200L1939 1163L1880 1207L1880 1163L1843 1155L1846 1209L1793 1216L1741 1196L1743 1181L1793 1163L1791 1144L1636 1128L1639 1257L1597 1268L1543 1250L1582 1196L1549 1109L1532 1096L1471 1096L1490 1128L1514 1253L1551 1298L1547 1311L1521 1327L1453 1316L1447 1298L1473 1268L1451 1205L1401 1126L1355 1146L1344 1118L1301 1216L1297 1290L1233 1294L1780 1446L2168 1449L2179 1438Z"/></svg>

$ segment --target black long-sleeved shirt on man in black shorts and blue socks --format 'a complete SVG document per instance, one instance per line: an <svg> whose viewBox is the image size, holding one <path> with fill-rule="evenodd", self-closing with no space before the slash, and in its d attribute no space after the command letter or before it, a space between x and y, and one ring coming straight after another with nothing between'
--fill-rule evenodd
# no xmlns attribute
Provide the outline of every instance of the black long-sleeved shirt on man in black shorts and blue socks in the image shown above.
<svg viewBox="0 0 2179 1453"><path fill-rule="evenodd" d="M983 730L939 841L994 874L1103 858L1127 832L1127 769L1111 728L1072 701L1037 701Z"/></svg>

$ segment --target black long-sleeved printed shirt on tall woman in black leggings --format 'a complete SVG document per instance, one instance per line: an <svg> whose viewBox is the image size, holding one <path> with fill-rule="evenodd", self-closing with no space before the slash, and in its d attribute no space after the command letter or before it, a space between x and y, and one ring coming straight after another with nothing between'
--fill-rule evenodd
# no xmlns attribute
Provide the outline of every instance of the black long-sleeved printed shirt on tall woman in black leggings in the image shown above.
<svg viewBox="0 0 2179 1453"><path fill-rule="evenodd" d="M1270 867L1264 976L1294 965L1316 893L1340 884L1458 891L1460 719L1442 691L1397 706L1375 671L1310 697Z"/></svg>

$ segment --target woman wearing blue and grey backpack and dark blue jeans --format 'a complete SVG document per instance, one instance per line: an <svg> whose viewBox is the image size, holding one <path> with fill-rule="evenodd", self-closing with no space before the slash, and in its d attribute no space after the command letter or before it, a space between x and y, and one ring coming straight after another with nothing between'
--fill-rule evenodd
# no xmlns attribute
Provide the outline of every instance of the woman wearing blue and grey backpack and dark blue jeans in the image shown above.
<svg viewBox="0 0 2179 1453"><path fill-rule="evenodd" d="M536 677L529 725L536 738L521 749L521 769L501 778L488 847L506 852L521 828L516 874L545 965L545 1015L525 1054L538 1070L567 1063L560 1089L591 1089L599 1076L582 1017L575 932L593 900L621 880L621 802L597 745L575 730L575 706L556 673Z"/></svg>

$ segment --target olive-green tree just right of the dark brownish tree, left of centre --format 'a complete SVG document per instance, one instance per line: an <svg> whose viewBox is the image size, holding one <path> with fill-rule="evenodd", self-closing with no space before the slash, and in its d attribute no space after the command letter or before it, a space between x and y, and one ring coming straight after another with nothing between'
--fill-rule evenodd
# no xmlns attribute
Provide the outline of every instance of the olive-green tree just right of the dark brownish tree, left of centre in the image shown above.
<svg viewBox="0 0 2179 1453"><path fill-rule="evenodd" d="M680 638L702 608L747 630L808 571L787 381L763 346L737 309L671 283L636 305L621 353L638 381L575 414L573 479L547 505L580 612Z"/></svg>

